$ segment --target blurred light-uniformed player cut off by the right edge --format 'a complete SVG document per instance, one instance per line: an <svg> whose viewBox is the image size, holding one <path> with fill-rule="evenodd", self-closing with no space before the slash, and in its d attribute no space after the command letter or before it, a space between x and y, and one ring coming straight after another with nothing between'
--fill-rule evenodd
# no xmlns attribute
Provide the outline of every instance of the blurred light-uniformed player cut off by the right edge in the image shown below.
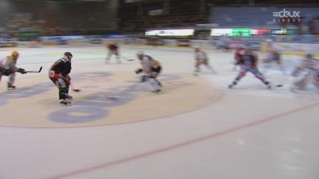
<svg viewBox="0 0 319 179"><path fill-rule="evenodd" d="M304 60L293 71L292 76L301 78L293 83L291 90L304 89L307 84L314 84L319 89L319 59L313 58L312 54L307 54Z"/></svg>

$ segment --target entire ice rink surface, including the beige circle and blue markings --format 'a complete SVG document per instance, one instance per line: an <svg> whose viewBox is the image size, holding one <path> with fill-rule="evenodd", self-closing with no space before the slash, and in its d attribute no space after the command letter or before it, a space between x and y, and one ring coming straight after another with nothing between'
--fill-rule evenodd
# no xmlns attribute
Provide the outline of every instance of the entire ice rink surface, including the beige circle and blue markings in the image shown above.
<svg viewBox="0 0 319 179"><path fill-rule="evenodd" d="M107 65L102 46L15 50L18 67L43 70L17 74L15 90L1 79L0 179L319 178L318 91L289 91L292 79L276 69L265 76L282 88L248 74L228 89L233 53L204 50L217 74L202 67L194 77L192 49L121 47L128 59L143 50L160 61L163 92L154 94L148 84L125 91L139 62ZM82 91L60 107L47 72L65 51ZM284 56L287 74L299 58ZM120 100L107 101L114 95Z"/></svg>

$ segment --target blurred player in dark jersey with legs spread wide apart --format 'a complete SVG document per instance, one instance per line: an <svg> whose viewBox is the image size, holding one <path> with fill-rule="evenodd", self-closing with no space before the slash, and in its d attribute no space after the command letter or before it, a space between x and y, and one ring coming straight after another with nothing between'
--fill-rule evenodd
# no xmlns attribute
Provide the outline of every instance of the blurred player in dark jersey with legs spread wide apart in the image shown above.
<svg viewBox="0 0 319 179"><path fill-rule="evenodd" d="M235 85L237 85L238 81L246 75L247 72L251 72L255 75L256 78L261 80L270 89L270 83L266 81L264 76L257 69L257 61L257 54L253 53L253 51L249 49L245 49L245 51L242 51L241 54L239 54L237 62L237 64L240 66L240 72L235 80L232 82L232 84L228 87L233 88Z"/></svg>

